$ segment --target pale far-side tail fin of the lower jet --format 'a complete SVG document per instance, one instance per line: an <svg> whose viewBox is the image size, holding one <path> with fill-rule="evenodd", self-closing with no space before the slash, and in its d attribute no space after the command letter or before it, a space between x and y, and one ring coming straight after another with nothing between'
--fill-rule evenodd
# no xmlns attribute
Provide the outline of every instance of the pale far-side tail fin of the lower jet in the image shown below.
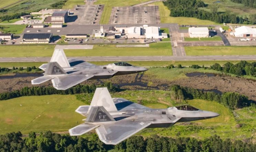
<svg viewBox="0 0 256 152"><path fill-rule="evenodd" d="M108 112L117 111L116 105L106 87L98 87L96 89L88 110L89 112L93 106L103 106Z"/></svg>

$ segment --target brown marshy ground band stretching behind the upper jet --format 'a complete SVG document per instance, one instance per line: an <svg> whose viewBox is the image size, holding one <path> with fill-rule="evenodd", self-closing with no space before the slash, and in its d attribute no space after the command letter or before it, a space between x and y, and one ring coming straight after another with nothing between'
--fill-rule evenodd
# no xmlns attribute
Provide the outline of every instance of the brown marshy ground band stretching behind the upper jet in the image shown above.
<svg viewBox="0 0 256 152"><path fill-rule="evenodd" d="M140 74L129 74L115 76L111 79L106 80L88 80L81 84L95 84L100 85L106 81L110 81L115 85L122 85L122 89L128 90L167 90L169 86L173 84L178 84L186 87L193 87L195 89L202 90L219 90L221 92L237 92L244 94L249 97L249 99L256 101L256 81L247 80L244 78L236 78L229 76L198 76L198 77L188 77L183 79L178 79L174 81L166 81L155 79L155 77ZM19 90L25 86L52 86L51 81L47 81L40 85L32 85L31 80L36 77L25 77L25 78L13 78L13 79L2 79L0 85L0 93ZM141 83L134 83L141 82ZM135 85L129 85L129 84ZM150 84L150 86L148 85Z"/></svg>

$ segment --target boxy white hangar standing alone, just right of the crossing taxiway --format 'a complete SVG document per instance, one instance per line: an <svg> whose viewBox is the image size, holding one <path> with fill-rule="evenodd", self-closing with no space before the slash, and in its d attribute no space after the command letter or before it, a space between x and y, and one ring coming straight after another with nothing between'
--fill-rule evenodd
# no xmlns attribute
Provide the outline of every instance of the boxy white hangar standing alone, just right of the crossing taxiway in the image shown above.
<svg viewBox="0 0 256 152"><path fill-rule="evenodd" d="M207 27L189 27L189 37L209 37Z"/></svg>

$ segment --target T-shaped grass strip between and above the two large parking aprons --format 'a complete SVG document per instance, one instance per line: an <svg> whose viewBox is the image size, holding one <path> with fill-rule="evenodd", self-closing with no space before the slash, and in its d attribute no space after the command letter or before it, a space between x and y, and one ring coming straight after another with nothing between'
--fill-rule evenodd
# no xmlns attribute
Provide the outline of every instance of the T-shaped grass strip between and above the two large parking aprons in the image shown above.
<svg viewBox="0 0 256 152"><path fill-rule="evenodd" d="M150 0L97 0L94 4L104 4L100 24L108 24L113 7L132 6Z"/></svg>

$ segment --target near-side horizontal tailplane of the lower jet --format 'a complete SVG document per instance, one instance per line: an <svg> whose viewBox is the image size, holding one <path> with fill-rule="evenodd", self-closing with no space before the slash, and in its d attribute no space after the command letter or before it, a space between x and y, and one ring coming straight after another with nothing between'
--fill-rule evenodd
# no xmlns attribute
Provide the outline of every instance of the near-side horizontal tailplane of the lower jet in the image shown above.
<svg viewBox="0 0 256 152"><path fill-rule="evenodd" d="M70 136L80 136L83 135L84 133L91 131L95 128L97 128L100 125L94 125L94 124L81 124L78 125L74 128L71 128L69 131Z"/></svg>

